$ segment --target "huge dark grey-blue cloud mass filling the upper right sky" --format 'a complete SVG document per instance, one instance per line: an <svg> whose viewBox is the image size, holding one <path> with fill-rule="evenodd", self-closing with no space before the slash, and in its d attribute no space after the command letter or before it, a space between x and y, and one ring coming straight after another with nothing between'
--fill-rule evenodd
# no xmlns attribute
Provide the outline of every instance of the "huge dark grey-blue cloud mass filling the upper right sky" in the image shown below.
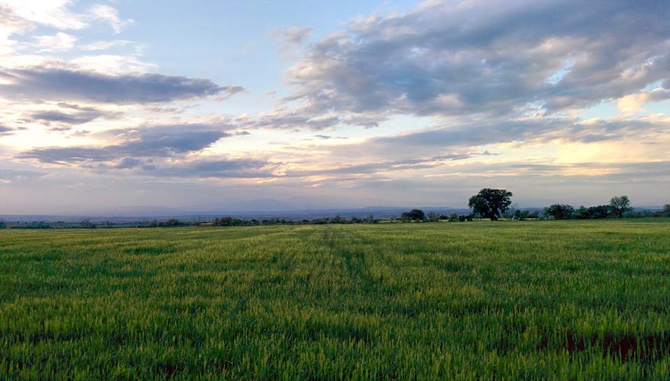
<svg viewBox="0 0 670 381"><path fill-rule="evenodd" d="M670 77L668 1L436 2L371 17L289 71L304 100L283 127L335 111L491 115L619 98ZM303 122L304 123L304 122Z"/></svg>

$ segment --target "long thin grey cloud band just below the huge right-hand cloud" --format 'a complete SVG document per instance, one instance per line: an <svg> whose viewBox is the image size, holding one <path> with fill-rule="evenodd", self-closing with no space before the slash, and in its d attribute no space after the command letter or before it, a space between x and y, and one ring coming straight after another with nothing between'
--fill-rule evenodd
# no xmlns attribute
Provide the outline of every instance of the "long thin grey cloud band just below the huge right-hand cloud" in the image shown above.
<svg viewBox="0 0 670 381"><path fill-rule="evenodd" d="M613 143L663 141L670 131L670 120L579 120L578 118L528 118L521 120L480 120L429 127L401 134L370 137L336 146L314 146L332 162L358 160L411 160L417 156L473 152L482 147L513 144L523 152L523 145L565 143ZM479 156L495 156L484 151ZM324 160L321 158L320 160ZM354 159L355 160L355 159Z"/></svg>

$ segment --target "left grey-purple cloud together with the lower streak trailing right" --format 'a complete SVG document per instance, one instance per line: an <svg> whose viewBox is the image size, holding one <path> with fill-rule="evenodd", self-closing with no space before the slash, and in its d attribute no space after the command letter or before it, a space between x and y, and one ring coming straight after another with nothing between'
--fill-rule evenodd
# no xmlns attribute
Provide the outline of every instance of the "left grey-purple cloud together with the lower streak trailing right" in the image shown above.
<svg viewBox="0 0 670 381"><path fill-rule="evenodd" d="M166 178L269 178L279 164L252 158L193 158L219 139L226 126L162 125L107 130L98 137L117 141L105 146L36 148L17 155L43 164L77 166L98 173L130 171Z"/></svg>

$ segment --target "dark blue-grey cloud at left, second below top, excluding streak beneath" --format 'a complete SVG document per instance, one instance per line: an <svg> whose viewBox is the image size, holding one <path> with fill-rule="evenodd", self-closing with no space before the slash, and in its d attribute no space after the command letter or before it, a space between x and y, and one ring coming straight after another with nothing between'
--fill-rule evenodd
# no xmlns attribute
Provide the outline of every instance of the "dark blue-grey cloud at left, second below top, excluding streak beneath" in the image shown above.
<svg viewBox="0 0 670 381"><path fill-rule="evenodd" d="M18 157L52 164L108 162L122 157L172 157L202 150L218 139L230 136L209 125L139 127L110 130L103 135L121 142L99 147L36 148Z"/></svg>

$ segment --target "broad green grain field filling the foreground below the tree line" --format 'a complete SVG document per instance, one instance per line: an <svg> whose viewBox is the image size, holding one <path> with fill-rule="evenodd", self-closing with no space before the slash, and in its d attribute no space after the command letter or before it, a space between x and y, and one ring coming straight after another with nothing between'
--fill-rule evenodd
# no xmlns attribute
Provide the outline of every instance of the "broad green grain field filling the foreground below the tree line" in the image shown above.
<svg viewBox="0 0 670 381"><path fill-rule="evenodd" d="M0 231L0 379L669 379L670 219Z"/></svg>

